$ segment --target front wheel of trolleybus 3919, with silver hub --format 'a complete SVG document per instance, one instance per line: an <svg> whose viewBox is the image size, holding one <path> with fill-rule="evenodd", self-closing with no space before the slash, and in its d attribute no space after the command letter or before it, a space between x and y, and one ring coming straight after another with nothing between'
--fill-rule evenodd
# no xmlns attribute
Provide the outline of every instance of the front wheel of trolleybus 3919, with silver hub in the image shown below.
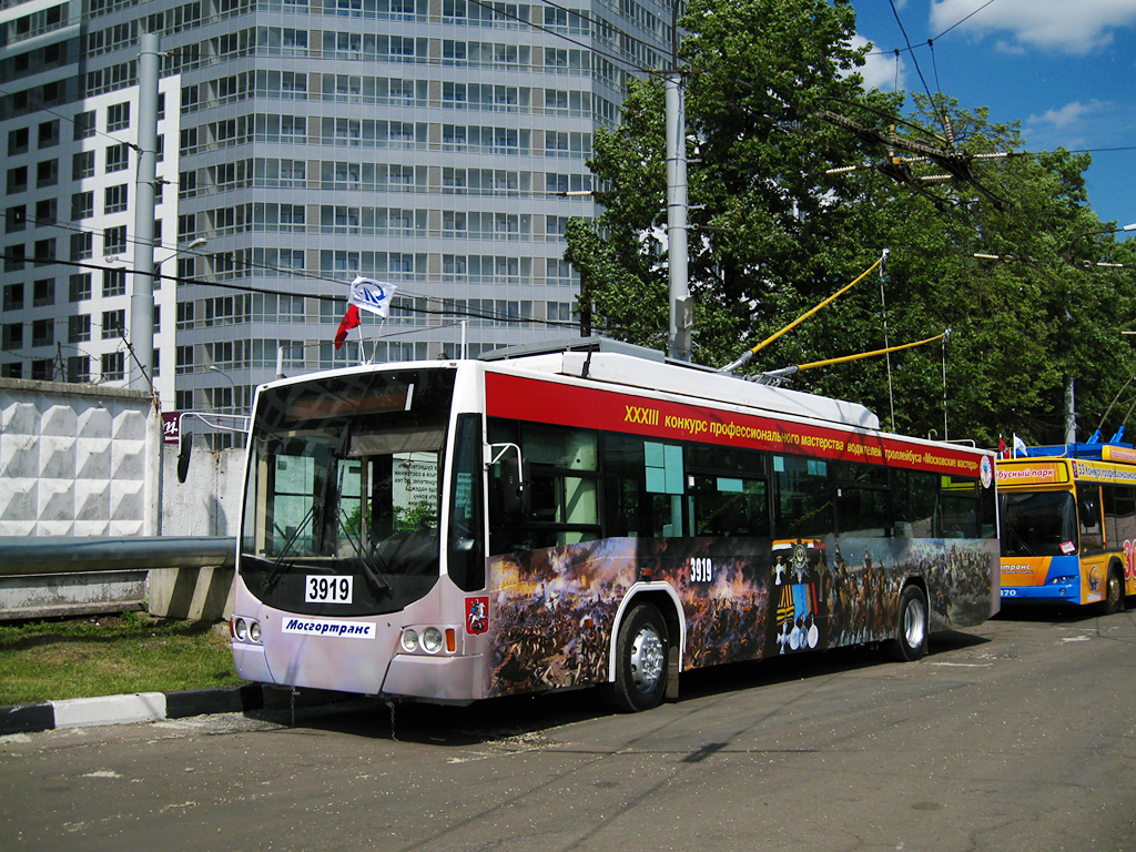
<svg viewBox="0 0 1136 852"><path fill-rule="evenodd" d="M618 711L650 710L667 691L667 623L650 603L635 607L616 638L616 679L605 684Z"/></svg>

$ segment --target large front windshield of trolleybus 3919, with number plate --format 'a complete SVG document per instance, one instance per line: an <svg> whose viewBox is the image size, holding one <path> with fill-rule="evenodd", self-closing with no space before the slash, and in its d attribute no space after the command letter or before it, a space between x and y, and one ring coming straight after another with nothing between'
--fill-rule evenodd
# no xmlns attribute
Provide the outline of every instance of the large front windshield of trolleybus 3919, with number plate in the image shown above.
<svg viewBox="0 0 1136 852"><path fill-rule="evenodd" d="M266 389L250 442L239 569L265 603L392 612L438 578L452 369Z"/></svg>

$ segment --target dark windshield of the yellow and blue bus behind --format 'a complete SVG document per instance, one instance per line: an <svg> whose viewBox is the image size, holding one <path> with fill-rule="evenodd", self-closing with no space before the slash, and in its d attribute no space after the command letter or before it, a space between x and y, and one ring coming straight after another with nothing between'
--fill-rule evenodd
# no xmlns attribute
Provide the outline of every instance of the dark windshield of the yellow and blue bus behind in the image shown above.
<svg viewBox="0 0 1136 852"><path fill-rule="evenodd" d="M1060 557L1077 549L1077 506L1067 491L1003 492L1003 557Z"/></svg>

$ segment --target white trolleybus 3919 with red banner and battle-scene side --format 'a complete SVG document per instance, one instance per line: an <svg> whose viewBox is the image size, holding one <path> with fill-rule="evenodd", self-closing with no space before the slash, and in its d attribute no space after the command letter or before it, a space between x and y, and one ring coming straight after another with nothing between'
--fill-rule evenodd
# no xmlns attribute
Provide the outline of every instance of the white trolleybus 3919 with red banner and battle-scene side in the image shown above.
<svg viewBox="0 0 1136 852"><path fill-rule="evenodd" d="M887 642L999 607L993 456L586 339L258 389L239 675L467 703Z"/></svg>

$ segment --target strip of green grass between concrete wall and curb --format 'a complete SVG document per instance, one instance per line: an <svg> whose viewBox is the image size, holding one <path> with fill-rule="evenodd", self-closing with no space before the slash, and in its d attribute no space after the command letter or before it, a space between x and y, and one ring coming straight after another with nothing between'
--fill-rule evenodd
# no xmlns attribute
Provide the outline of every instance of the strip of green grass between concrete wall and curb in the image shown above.
<svg viewBox="0 0 1136 852"><path fill-rule="evenodd" d="M0 707L241 683L224 624L143 612L0 621Z"/></svg>

